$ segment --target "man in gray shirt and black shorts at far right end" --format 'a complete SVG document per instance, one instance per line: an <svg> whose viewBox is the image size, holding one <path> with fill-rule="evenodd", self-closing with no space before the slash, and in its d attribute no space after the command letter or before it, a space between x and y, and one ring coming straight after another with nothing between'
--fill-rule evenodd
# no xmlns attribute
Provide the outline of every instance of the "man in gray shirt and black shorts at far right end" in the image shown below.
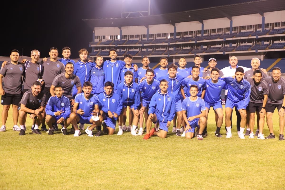
<svg viewBox="0 0 285 190"><path fill-rule="evenodd" d="M268 83L269 95L266 103L266 122L270 134L266 138L275 138L273 132L272 115L277 107L279 115L279 140L284 140L284 109L285 109L285 79L281 77L281 69L274 67L272 69L272 77L264 79Z"/></svg>

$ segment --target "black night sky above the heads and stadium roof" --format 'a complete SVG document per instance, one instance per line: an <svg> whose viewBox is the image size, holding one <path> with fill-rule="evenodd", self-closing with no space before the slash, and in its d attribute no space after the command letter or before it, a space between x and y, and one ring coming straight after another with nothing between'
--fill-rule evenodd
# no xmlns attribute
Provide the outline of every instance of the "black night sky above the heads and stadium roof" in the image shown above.
<svg viewBox="0 0 285 190"><path fill-rule="evenodd" d="M139 11L141 1L125 0L125 11ZM247 2L245 0L192 1L151 0L151 15L202 9ZM30 56L37 49L41 57L48 57L50 47L57 47L59 55L64 46L72 49L71 58L78 58L78 50L89 48L93 28L82 19L121 17L122 0L80 1L6 1L1 9L1 53L9 56L12 49ZM22 52L22 49L23 52Z"/></svg>

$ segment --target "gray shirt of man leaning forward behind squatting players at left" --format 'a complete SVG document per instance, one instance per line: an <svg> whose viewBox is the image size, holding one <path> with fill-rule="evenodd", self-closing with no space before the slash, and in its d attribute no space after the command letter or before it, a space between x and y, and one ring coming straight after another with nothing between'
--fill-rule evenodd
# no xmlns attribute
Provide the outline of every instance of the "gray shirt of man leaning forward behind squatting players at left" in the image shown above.
<svg viewBox="0 0 285 190"><path fill-rule="evenodd" d="M71 97L71 91L73 86L75 85L76 88L81 87L81 82L78 76L74 74L72 74L71 77L68 79L65 77L65 73L61 73L54 78L52 85L61 85L62 89L64 90L63 95L69 98Z"/></svg>

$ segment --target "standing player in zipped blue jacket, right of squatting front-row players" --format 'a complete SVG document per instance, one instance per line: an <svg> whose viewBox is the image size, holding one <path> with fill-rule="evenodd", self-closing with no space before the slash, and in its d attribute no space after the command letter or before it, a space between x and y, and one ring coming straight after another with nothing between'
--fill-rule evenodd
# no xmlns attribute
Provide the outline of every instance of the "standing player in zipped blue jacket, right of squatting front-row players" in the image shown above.
<svg viewBox="0 0 285 190"><path fill-rule="evenodd" d="M139 85L133 81L133 72L125 72L125 80L118 85L117 94L121 97L123 102L123 109L121 115L119 116L119 132L117 135L123 134L123 116L127 111L127 107L130 107L130 112L133 113L133 127L131 134L136 136L137 132L135 131L139 123L139 106L141 104L141 97L139 91ZM141 128L140 130L143 130Z"/></svg>

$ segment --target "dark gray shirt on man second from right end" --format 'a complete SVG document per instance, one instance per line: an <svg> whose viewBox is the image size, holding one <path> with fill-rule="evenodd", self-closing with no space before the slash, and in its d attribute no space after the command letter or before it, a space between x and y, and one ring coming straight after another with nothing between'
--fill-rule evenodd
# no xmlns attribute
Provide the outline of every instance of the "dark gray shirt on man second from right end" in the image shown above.
<svg viewBox="0 0 285 190"><path fill-rule="evenodd" d="M250 92L250 102L253 103L263 103L264 94L268 95L268 84L265 81L260 81L258 85L255 84L253 79L246 79L250 83L251 92Z"/></svg>

